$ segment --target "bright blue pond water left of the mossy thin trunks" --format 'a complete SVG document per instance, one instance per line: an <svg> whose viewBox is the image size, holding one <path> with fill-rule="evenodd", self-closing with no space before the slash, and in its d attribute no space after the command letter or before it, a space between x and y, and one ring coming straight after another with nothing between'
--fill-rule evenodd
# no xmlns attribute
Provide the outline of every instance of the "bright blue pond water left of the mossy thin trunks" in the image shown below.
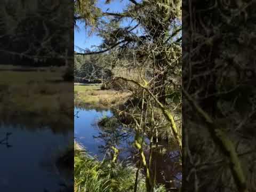
<svg viewBox="0 0 256 192"><path fill-rule="evenodd" d="M130 143L133 141L133 132L127 131L124 133L122 127L117 127L113 131L106 131L97 124L103 116L113 116L110 110L75 108L74 112L75 140L85 147L91 155L96 155L100 160L106 158L107 146L111 143L121 149L121 158L130 156Z"/></svg>

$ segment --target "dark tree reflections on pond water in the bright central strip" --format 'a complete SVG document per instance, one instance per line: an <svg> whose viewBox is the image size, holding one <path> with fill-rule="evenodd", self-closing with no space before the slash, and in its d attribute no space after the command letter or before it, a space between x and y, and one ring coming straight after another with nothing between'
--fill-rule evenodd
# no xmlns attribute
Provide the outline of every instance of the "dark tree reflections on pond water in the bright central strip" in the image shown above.
<svg viewBox="0 0 256 192"><path fill-rule="evenodd" d="M102 154L107 154L109 157L113 156L113 149L111 147L115 146L126 157L128 155L131 156L133 162L139 166L140 157L138 151L132 145L134 139L132 129L125 129L125 127L119 124L115 124L115 126L99 125L98 127L101 132L98 137L94 138L100 139L105 143L105 145L99 146ZM148 161L150 151L149 149L145 149L144 151ZM173 147L163 141L163 143L159 143L158 147L154 148L151 158L151 170L155 174L156 181L163 183L169 189L179 188L182 179L179 150L173 149Z"/></svg>

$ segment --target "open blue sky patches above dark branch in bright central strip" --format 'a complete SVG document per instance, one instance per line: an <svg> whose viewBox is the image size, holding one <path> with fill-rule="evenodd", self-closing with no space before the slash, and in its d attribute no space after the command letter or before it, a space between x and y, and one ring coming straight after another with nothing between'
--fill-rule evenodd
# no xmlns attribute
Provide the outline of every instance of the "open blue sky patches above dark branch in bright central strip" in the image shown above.
<svg viewBox="0 0 256 192"><path fill-rule="evenodd" d="M122 10L126 7L129 3L127 0L113 0L110 4L105 4L106 0L98 0L97 6L105 12L107 9L108 12L122 12ZM77 46L81 47L82 49L92 49L91 46L99 45L101 43L101 38L98 37L96 34L92 34L89 36L86 33L84 23L77 23L79 30L75 28L74 33L74 43L75 43L75 51L78 52Z"/></svg>

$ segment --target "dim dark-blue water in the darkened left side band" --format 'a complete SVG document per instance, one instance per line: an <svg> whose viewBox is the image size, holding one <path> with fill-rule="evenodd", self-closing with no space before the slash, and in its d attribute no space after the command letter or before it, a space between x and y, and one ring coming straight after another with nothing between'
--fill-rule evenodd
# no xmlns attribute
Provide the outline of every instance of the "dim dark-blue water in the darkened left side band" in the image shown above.
<svg viewBox="0 0 256 192"><path fill-rule="evenodd" d="M67 178L55 162L73 137L73 130L54 133L49 127L1 123L1 191L60 191Z"/></svg>

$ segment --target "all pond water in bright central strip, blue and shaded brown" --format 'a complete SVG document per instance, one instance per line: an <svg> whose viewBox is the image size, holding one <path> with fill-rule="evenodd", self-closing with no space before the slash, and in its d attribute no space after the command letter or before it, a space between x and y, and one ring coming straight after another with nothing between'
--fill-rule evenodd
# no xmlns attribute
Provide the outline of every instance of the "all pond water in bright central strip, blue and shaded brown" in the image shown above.
<svg viewBox="0 0 256 192"><path fill-rule="evenodd" d="M139 154L133 147L135 133L129 127L119 124L103 127L98 124L104 117L114 117L110 110L75 108L75 140L85 147L91 155L100 160L111 157L111 146L119 150L119 160L138 164ZM149 139L145 138L146 143ZM149 149L145 148L145 156L149 158ZM180 154L177 146L170 146L165 141L158 143L153 150L153 170L156 170L156 181L166 188L179 188L182 180Z"/></svg>

